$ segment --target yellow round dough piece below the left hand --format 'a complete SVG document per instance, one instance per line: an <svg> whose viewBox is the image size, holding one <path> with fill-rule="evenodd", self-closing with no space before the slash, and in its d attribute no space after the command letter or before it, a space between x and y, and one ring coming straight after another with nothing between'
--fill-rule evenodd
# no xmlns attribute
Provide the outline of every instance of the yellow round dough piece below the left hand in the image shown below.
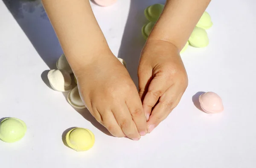
<svg viewBox="0 0 256 168"><path fill-rule="evenodd" d="M67 145L75 151L87 151L93 147L95 136L86 128L73 128L66 134Z"/></svg>

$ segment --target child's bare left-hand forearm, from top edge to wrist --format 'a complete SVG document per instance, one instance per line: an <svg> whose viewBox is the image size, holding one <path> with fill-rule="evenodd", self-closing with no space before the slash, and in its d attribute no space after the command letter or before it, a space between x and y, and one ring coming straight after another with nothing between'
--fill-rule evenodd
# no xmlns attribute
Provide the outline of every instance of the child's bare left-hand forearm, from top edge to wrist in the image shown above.
<svg viewBox="0 0 256 168"><path fill-rule="evenodd" d="M42 3L74 71L101 57L101 53L111 52L89 0L42 0Z"/></svg>

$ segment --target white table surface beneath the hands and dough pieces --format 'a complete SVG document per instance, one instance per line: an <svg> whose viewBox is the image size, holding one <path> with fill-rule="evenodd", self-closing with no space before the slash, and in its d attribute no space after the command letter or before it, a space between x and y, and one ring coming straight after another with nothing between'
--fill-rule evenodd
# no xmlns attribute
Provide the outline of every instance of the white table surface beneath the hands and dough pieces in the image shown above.
<svg viewBox="0 0 256 168"><path fill-rule="evenodd" d="M104 134L88 111L79 114L61 92L44 83L62 54L49 20L37 2L4 2L9 9L0 0L0 118L20 118L28 129L19 142L0 142L1 167L256 167L255 0L212 0L207 9L214 23L209 46L189 47L182 54L189 86L180 104L139 141ZM157 2L163 0L118 0L108 8L92 4L111 50L125 59L135 83L145 42L143 10ZM219 94L224 112L198 110L192 97L200 91ZM93 131L93 148L67 148L62 134L71 127Z"/></svg>

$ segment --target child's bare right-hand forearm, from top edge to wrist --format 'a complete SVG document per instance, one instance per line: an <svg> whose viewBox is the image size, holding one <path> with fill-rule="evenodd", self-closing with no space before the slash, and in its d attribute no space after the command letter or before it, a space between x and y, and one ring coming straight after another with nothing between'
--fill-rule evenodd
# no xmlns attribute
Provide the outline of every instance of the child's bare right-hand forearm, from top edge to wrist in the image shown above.
<svg viewBox="0 0 256 168"><path fill-rule="evenodd" d="M211 0L166 0L148 40L165 40L180 51Z"/></svg>

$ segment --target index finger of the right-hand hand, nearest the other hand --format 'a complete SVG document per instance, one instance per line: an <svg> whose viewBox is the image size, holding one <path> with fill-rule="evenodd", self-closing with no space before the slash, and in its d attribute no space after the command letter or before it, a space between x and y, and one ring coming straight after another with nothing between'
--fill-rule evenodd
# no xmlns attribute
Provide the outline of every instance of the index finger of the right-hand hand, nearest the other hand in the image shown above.
<svg viewBox="0 0 256 168"><path fill-rule="evenodd" d="M167 83L165 77L163 76L155 76L151 83L148 86L148 92L145 95L143 100L143 109L146 115L146 119L149 119L152 108L156 105L159 97L166 92L166 90L170 87L170 81ZM171 85L172 87L172 85Z"/></svg>

